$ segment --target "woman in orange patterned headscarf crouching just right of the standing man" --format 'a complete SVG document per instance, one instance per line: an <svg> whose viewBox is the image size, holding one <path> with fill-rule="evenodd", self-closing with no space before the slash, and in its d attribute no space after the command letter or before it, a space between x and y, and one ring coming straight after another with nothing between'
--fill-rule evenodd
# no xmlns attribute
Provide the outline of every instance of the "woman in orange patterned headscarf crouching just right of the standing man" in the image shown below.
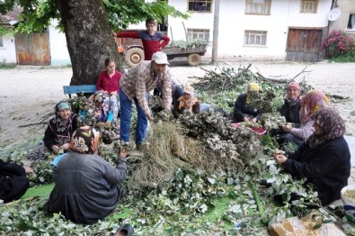
<svg viewBox="0 0 355 236"><path fill-rule="evenodd" d="M185 86L183 88L182 96L177 100L177 103L173 105L173 117L179 118L185 111L201 113L200 103L194 96L192 86Z"/></svg>

